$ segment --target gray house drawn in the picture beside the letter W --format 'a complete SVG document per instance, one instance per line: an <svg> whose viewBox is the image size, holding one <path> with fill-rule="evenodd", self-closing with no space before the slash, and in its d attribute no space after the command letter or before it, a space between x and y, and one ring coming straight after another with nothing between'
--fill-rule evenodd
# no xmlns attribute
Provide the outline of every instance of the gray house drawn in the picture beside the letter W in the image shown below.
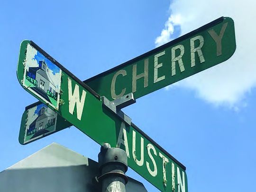
<svg viewBox="0 0 256 192"><path fill-rule="evenodd" d="M33 79L35 87L32 87L36 92L42 95L46 100L48 96L57 100L57 88L53 83L49 73L52 73L45 61L39 61L38 67L29 67L27 71L27 78Z"/></svg>

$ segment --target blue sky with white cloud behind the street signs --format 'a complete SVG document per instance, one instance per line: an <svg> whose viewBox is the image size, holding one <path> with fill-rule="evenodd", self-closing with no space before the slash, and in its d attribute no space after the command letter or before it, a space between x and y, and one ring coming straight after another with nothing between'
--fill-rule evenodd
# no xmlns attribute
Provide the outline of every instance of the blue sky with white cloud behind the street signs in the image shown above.
<svg viewBox="0 0 256 192"><path fill-rule="evenodd" d="M187 167L189 192L253 191L255 4L252 0L242 5L231 0L1 2L0 82L4 91L0 96L0 171L52 142L94 160L100 150L75 127L25 146L18 143L22 113L37 101L21 88L16 77L22 40L36 42L85 80L226 16L234 19L236 28L237 50L232 58L150 93L124 111ZM143 182L149 192L158 191L133 171L128 175Z"/></svg>

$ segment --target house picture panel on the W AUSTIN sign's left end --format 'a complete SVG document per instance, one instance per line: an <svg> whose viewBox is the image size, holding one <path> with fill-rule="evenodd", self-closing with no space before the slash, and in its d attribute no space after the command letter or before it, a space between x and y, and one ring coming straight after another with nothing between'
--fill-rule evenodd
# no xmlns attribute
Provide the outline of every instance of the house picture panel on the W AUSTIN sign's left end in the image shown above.
<svg viewBox="0 0 256 192"><path fill-rule="evenodd" d="M61 69L27 44L23 85L46 103L58 109Z"/></svg>

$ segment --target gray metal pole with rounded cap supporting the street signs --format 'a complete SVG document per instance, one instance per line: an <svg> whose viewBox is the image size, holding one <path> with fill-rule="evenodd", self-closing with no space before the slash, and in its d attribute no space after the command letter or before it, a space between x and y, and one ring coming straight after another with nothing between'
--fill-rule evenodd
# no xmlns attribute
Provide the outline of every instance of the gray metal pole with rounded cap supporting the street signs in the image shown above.
<svg viewBox="0 0 256 192"><path fill-rule="evenodd" d="M125 172L128 169L127 154L119 148L111 148L109 143L101 146L98 155L99 171L97 179L101 183L102 192L126 192L128 178Z"/></svg>

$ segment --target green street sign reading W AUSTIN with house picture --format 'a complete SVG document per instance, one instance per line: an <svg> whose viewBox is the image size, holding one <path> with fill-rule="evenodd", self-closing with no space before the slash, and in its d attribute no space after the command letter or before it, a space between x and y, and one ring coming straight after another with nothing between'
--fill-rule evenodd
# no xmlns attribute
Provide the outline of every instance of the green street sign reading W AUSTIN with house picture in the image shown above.
<svg viewBox="0 0 256 192"><path fill-rule="evenodd" d="M136 125L127 125L110 109L104 107L100 95L34 42L21 42L17 76L27 92L95 142L101 145L108 142L111 146L124 149L128 156L128 166L159 190L187 192L185 167L179 161ZM57 122L58 119L49 118L51 112L48 108L37 109L37 113L34 112L35 120L25 122L25 125L29 124L28 127L36 131L54 126L54 121ZM54 127L51 127L50 131L52 130ZM29 139L31 138L27 138L28 142Z"/></svg>

